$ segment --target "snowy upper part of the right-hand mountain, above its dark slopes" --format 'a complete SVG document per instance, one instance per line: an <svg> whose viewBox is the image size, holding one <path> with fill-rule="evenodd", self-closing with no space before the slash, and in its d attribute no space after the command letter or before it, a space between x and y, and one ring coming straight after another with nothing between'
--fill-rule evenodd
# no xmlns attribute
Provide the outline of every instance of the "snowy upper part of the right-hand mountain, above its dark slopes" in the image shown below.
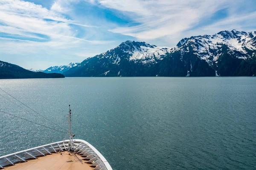
<svg viewBox="0 0 256 170"><path fill-rule="evenodd" d="M232 30L185 38L177 44L173 52L175 51L182 54L181 59L189 53L205 60L209 65L216 65L219 57L225 53L234 58L247 59L256 53L256 33Z"/></svg>

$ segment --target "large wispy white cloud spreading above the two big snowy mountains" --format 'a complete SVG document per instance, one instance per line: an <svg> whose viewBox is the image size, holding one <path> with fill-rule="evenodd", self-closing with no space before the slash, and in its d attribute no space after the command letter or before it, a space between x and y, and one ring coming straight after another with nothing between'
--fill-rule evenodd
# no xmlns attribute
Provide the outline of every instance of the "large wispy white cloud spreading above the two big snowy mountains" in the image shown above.
<svg viewBox="0 0 256 170"><path fill-rule="evenodd" d="M227 6L229 0L133 0L128 6L118 0L100 0L103 6L120 9L140 23L137 26L118 27L111 31L141 40L179 34L196 26L201 20ZM140 4L138 6L137 4ZM135 8L133 8L135 6Z"/></svg>

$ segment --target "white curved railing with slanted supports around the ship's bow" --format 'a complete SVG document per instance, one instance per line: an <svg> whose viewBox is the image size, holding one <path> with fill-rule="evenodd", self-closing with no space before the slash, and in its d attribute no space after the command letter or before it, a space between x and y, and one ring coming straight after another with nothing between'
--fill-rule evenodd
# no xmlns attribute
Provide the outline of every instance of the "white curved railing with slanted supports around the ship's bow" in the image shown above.
<svg viewBox="0 0 256 170"><path fill-rule="evenodd" d="M17 162L25 162L27 159L37 159L38 156L46 156L47 154L63 152L68 150L69 140L46 144L39 147L34 147L20 152L12 153L0 157L0 168L7 165L14 165ZM79 153L86 163L93 163L90 166L95 167L94 170L112 170L108 161L102 156L93 145L80 139L73 139L73 145L76 153Z"/></svg>

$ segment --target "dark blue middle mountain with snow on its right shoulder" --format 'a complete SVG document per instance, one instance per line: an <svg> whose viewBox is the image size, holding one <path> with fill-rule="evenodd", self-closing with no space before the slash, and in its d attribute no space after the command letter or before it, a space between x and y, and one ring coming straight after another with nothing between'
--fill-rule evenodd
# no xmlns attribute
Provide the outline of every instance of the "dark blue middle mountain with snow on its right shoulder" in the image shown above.
<svg viewBox="0 0 256 170"><path fill-rule="evenodd" d="M157 47L145 42L125 41L116 48L92 58L66 71L75 77L135 76L146 68L160 62L171 51L169 47Z"/></svg>

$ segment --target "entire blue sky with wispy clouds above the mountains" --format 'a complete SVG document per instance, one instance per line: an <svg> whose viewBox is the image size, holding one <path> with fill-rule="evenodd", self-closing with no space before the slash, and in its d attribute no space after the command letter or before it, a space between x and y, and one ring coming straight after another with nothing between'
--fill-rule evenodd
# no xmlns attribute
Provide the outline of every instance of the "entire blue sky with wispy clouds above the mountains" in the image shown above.
<svg viewBox="0 0 256 170"><path fill-rule="evenodd" d="M256 31L256 0L0 0L0 60L23 68L82 62L126 40Z"/></svg>

